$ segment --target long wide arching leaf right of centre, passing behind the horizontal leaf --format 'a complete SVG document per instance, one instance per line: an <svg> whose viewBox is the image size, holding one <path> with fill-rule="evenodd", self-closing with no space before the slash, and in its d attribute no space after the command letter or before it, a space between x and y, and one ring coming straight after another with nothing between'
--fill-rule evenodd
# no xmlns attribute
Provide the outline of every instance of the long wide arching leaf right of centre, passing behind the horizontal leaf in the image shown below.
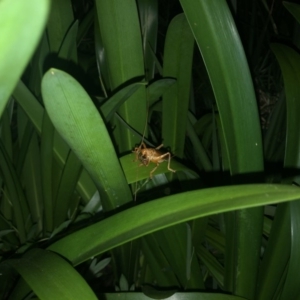
<svg viewBox="0 0 300 300"><path fill-rule="evenodd" d="M215 95L230 173L261 172L263 151L258 108L247 59L227 2L180 0L180 3ZM227 231L230 236L226 241L225 289L253 299L263 211L256 208L236 212L228 220L234 224L233 230Z"/></svg>

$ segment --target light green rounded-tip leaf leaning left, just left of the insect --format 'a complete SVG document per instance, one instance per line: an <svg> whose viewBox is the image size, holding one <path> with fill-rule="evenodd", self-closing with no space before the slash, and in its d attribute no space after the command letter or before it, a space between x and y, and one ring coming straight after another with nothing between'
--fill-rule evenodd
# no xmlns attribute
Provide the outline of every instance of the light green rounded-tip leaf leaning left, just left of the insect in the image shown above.
<svg viewBox="0 0 300 300"><path fill-rule="evenodd" d="M85 90L67 73L50 69L42 81L42 95L55 128L97 185L104 209L130 201L106 126Z"/></svg>

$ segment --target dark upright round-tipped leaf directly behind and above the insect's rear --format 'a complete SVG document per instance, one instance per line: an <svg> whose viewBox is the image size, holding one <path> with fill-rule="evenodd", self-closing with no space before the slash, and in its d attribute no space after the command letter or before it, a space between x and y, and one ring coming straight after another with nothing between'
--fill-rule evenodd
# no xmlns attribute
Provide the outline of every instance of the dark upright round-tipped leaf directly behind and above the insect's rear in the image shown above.
<svg viewBox="0 0 300 300"><path fill-rule="evenodd" d="M194 37L184 14L170 23L164 49L164 77L176 83L163 96L162 136L166 147L183 157L190 101Z"/></svg>

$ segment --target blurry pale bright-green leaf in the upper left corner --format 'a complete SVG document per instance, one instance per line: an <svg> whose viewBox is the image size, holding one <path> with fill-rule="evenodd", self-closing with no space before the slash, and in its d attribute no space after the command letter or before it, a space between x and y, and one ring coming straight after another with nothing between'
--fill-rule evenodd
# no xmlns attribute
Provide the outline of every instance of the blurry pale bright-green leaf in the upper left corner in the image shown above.
<svg viewBox="0 0 300 300"><path fill-rule="evenodd" d="M0 116L39 42L48 10L48 0L0 2Z"/></svg>

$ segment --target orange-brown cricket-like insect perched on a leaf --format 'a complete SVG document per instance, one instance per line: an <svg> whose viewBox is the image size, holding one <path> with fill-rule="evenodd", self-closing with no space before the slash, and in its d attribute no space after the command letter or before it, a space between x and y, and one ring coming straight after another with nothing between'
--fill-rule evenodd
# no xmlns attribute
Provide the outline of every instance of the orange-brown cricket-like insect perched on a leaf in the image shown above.
<svg viewBox="0 0 300 300"><path fill-rule="evenodd" d="M141 162L140 166L148 166L150 162L156 164L156 167L150 172L150 178L152 178L154 171L158 168L159 164L168 161L168 170L175 173L176 171L171 169L170 162L171 162L171 153L166 152L162 153L159 151L160 148L163 147L163 144L156 148L147 148L144 142L141 143L139 147L135 147L132 152L135 153L136 159L135 161L139 160Z"/></svg>

